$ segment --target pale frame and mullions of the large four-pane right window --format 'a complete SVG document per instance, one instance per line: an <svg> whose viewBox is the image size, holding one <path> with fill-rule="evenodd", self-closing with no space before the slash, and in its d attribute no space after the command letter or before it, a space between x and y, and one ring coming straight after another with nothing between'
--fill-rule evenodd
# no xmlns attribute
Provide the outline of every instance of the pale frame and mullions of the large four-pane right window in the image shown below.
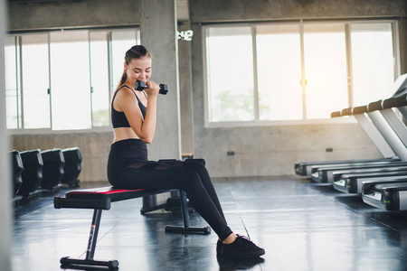
<svg viewBox="0 0 407 271"><path fill-rule="evenodd" d="M316 23L344 23L345 25L345 53L346 53L346 72L348 75L348 105L353 106L353 75L352 75L352 57L351 57L351 24L352 23L391 23L393 33L393 67L394 67L394 79L400 76L400 44L398 33L398 21L393 19L361 19L361 20L291 20L291 21L273 21L273 22L247 22L247 23L206 23L202 29L202 48L203 48L203 87L204 87L204 127L206 128L219 128L219 127L245 127L245 126L298 126L298 125L324 125L324 124L352 124L356 123L354 117L335 117L335 118L317 118L308 119L307 107L306 107L306 75L305 75L305 54L304 54L304 26L306 24ZM303 118L297 120L260 120L259 111L259 86L258 86L258 63L257 63L257 44L256 44L256 26L258 25L287 25L298 24L299 38L300 38L300 57L301 57L301 86L302 86L302 103L303 103ZM210 100L209 100L209 83L208 83L208 55L207 55L207 41L208 29L213 27L241 27L250 26L252 35L252 55L253 55L253 115L254 120L251 121L224 121L224 122L211 122L210 121ZM332 111L341 110L343 108L332 108Z"/></svg>

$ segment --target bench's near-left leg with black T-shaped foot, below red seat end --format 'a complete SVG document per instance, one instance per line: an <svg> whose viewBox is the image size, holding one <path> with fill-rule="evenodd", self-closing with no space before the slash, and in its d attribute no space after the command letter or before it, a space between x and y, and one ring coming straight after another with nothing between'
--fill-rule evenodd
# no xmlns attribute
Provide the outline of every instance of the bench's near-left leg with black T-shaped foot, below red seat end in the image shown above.
<svg viewBox="0 0 407 271"><path fill-rule="evenodd" d="M93 259L95 255L96 242L98 240L99 225L101 219L101 209L95 209L93 211L92 225L90 226L90 236L88 241L88 249L86 250L85 259L74 259L70 257L62 257L62 266L80 265L80 266L109 266L109 268L118 267L117 260L111 261L95 261Z"/></svg>

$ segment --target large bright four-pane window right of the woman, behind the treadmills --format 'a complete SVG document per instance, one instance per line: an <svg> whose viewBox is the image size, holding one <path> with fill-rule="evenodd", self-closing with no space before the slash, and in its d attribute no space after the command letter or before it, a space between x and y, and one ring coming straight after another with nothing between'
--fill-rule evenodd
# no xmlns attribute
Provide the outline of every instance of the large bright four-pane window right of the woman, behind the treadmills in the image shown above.
<svg viewBox="0 0 407 271"><path fill-rule="evenodd" d="M209 123L327 119L389 97L392 23L206 27Z"/></svg>

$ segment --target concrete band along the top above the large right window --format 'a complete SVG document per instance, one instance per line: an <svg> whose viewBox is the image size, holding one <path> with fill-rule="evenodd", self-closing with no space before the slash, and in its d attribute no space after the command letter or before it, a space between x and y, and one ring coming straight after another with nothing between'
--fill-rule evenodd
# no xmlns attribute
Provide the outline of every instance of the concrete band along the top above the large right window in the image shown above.
<svg viewBox="0 0 407 271"><path fill-rule="evenodd" d="M191 23L405 15L404 0L190 0Z"/></svg>

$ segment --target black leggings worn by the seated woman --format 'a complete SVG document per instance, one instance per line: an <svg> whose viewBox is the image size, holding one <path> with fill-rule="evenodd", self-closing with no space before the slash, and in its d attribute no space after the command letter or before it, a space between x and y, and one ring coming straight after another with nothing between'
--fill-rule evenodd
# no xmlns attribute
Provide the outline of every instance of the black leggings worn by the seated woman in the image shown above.
<svg viewBox="0 0 407 271"><path fill-rule="evenodd" d="M122 189L181 189L219 238L232 234L204 164L148 161L147 145L139 139L126 139L110 147L108 179Z"/></svg>

